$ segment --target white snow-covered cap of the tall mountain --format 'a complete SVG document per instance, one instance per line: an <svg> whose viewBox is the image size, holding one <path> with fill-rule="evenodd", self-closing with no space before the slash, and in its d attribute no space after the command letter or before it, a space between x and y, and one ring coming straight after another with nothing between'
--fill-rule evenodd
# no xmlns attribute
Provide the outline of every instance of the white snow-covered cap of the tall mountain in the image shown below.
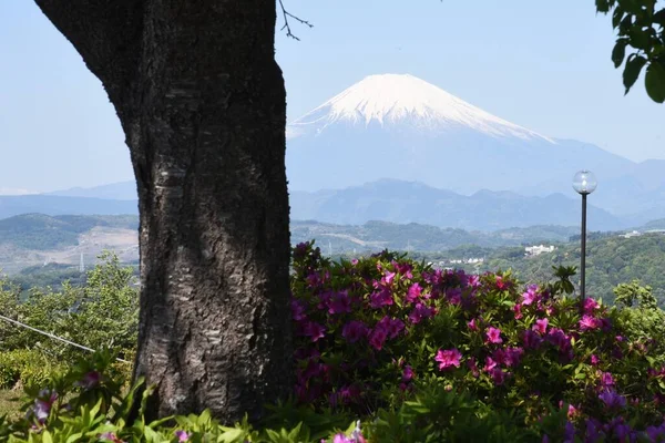
<svg viewBox="0 0 665 443"><path fill-rule="evenodd" d="M382 126L409 124L419 131L470 128L495 137L540 138L533 131L475 107L410 74L370 75L293 122L287 136L316 131L337 122Z"/></svg>

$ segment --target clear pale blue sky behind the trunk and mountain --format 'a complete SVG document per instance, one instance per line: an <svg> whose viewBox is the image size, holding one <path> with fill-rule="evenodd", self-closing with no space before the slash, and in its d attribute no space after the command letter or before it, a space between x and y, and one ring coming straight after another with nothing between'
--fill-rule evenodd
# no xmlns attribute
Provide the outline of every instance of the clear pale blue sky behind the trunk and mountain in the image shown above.
<svg viewBox="0 0 665 443"><path fill-rule="evenodd" d="M296 119L376 73L411 73L513 123L634 161L665 158L665 106L624 97L610 20L592 0L285 0L277 35ZM282 23L282 17L278 18ZM29 0L0 1L0 188L132 178L100 82Z"/></svg>

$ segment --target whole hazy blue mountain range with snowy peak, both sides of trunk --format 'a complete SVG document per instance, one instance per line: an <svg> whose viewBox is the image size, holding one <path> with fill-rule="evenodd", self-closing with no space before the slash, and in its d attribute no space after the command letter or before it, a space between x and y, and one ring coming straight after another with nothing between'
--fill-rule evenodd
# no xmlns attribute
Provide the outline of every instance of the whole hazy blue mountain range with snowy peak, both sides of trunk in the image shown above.
<svg viewBox="0 0 665 443"><path fill-rule="evenodd" d="M665 161L634 163L491 115L411 75L371 75L287 126L291 218L466 229L579 225L573 174L592 169L590 228L665 217ZM132 182L0 196L23 213L135 214Z"/></svg>

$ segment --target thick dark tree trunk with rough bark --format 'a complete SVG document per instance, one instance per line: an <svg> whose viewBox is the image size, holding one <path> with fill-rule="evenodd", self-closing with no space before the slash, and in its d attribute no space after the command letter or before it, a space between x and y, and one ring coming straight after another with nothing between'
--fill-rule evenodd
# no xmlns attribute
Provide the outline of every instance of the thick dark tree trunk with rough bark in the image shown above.
<svg viewBox="0 0 665 443"><path fill-rule="evenodd" d="M289 393L286 97L268 0L35 0L102 81L140 199L153 413Z"/></svg>

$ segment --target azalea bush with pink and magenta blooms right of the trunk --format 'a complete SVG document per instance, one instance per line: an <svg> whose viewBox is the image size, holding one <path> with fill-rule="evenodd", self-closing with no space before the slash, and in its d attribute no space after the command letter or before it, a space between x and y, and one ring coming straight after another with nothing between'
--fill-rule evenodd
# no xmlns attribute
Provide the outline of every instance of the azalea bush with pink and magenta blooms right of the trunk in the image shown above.
<svg viewBox="0 0 665 443"><path fill-rule="evenodd" d="M381 253L330 262L294 251L298 400L367 414L418 395L417 380L470 393L534 429L565 410L566 439L656 439L663 427L661 337L634 312L572 298L573 269L524 287L511 272L467 275Z"/></svg>

